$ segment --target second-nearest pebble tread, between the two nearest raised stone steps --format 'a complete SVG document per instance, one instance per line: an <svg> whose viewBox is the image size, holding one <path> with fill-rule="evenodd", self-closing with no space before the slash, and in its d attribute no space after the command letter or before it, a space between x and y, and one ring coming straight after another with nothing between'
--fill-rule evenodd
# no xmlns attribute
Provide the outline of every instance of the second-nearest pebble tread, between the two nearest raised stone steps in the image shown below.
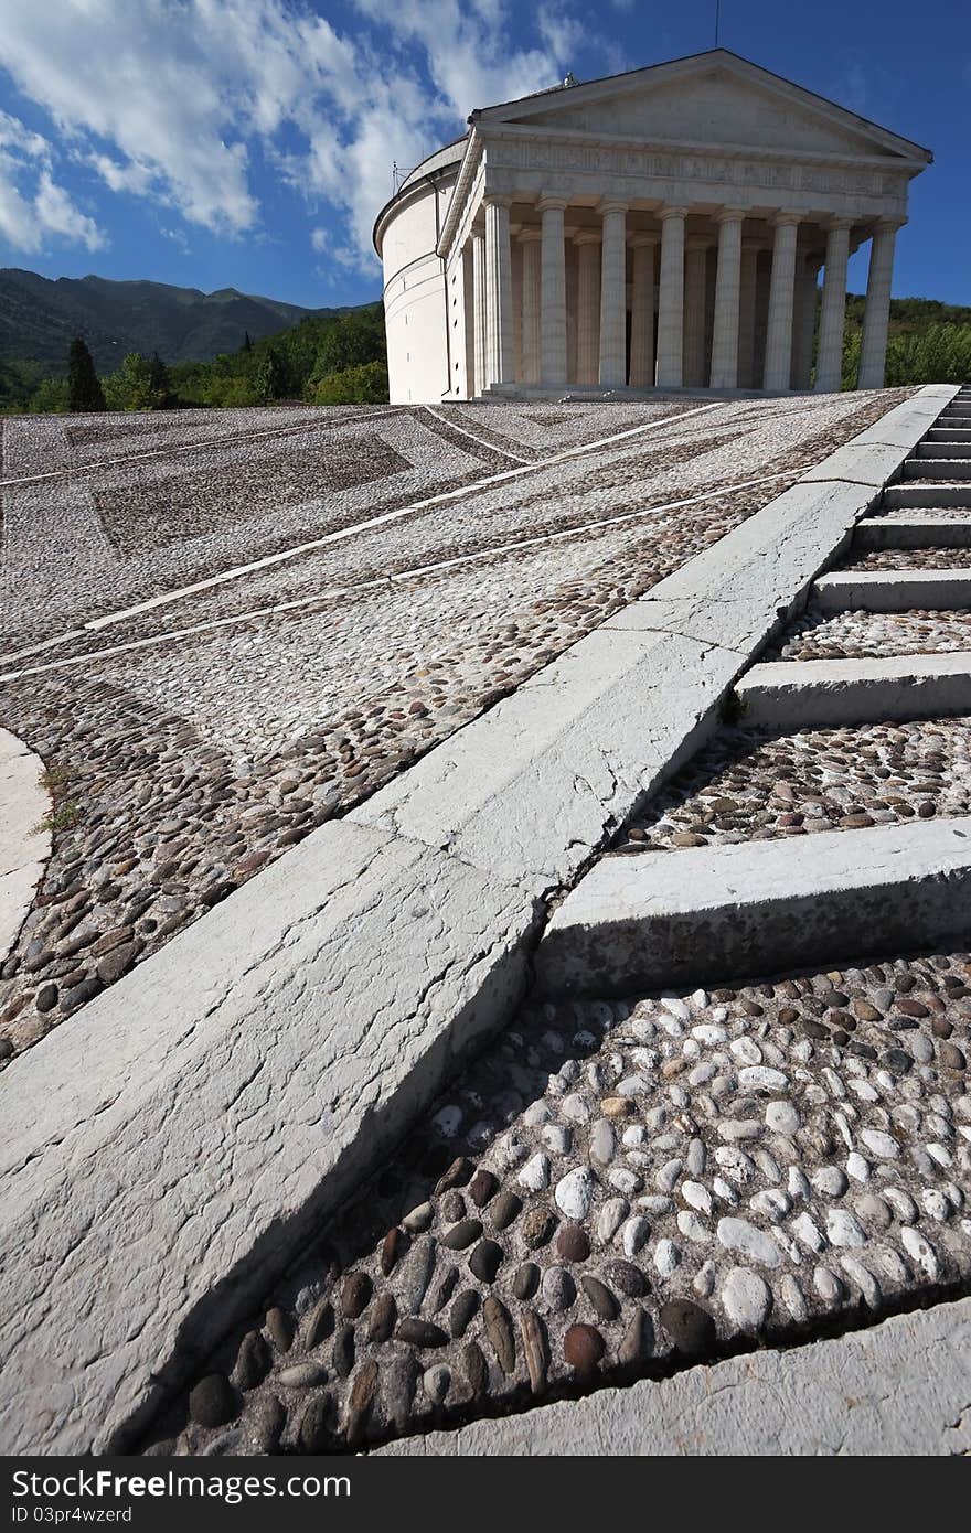
<svg viewBox="0 0 971 1533"><path fill-rule="evenodd" d="M971 719L722 730L618 837L624 852L971 812Z"/></svg>

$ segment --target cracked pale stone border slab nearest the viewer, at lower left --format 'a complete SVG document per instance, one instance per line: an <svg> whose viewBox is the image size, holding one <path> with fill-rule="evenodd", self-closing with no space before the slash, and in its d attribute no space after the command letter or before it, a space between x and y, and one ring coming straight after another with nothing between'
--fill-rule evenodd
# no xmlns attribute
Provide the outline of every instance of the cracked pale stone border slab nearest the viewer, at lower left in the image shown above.
<svg viewBox="0 0 971 1533"><path fill-rule="evenodd" d="M18 1061L3 1452L124 1439L515 1006L532 921L515 888L331 823L84 1007L57 1070Z"/></svg>

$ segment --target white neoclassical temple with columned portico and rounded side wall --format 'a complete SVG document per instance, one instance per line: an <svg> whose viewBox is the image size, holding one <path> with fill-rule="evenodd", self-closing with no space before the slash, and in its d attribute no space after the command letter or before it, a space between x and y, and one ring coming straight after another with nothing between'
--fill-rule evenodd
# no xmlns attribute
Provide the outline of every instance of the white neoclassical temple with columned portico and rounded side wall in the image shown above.
<svg viewBox="0 0 971 1533"><path fill-rule="evenodd" d="M724 49L476 110L374 224L393 403L884 382L894 238L931 153ZM822 307L813 356L815 307Z"/></svg>

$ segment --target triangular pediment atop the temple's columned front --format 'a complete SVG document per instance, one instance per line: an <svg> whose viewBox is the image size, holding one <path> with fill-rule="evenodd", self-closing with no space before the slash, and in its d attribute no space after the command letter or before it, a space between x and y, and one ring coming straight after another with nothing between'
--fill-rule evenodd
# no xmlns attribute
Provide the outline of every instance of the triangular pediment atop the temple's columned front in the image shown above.
<svg viewBox="0 0 971 1533"><path fill-rule="evenodd" d="M526 97L477 112L472 121L483 129L512 124L652 143L930 159L919 144L722 49Z"/></svg>

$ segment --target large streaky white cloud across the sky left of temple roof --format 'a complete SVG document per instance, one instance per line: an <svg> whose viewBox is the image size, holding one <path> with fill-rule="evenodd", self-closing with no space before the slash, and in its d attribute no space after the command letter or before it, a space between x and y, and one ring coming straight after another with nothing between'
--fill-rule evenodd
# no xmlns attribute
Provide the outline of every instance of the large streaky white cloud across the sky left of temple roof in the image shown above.
<svg viewBox="0 0 971 1533"><path fill-rule="evenodd" d="M514 18L529 28L517 48ZM581 49L603 54L569 0L535 14L517 0L351 0L344 34L307 0L0 0L0 37L15 86L110 192L253 238L255 167L268 164L310 216L328 204L344 227L327 254L357 265L373 261L393 161L459 136L477 106L580 74ZM91 221L57 190L38 185L34 218L89 242Z"/></svg>

